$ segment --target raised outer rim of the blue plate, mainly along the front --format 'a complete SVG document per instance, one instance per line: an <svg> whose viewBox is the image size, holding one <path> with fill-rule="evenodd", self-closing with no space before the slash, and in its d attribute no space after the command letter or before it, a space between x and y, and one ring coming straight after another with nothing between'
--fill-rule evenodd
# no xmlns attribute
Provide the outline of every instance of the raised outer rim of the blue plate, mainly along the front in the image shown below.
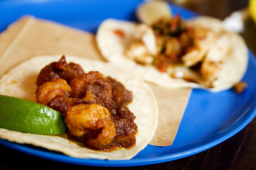
<svg viewBox="0 0 256 170"><path fill-rule="evenodd" d="M31 2L33 0L30 0ZM3 2L3 1L2 1ZM7 0L5 0L7 2ZM28 1L27 1L28 2ZM179 7L179 6L176 6ZM182 7L181 7L182 8ZM184 9L185 12L190 10ZM194 12L193 12L194 13ZM198 15L194 13L194 15ZM249 53L249 62L253 63L253 66L256 68L256 59L255 56L252 54L250 50L248 50ZM176 153L171 153L168 155L161 155L157 157L149 157L149 158L136 158L136 159L131 159L131 160L96 160L96 159L84 159L84 158L74 158L74 157L69 157L67 155L55 153L52 151L44 151L40 148L36 147L30 147L28 145L23 145L23 144L17 144L14 142L10 142L4 139L0 139L0 144L15 149L20 152L24 152L26 154L34 155L36 157L41 157L45 158L48 160L55 160L63 163L70 163L70 164L79 164L79 165L87 165L87 166L105 166L105 167L121 167L121 166L141 166L141 165L148 165L148 164L155 164L155 163L162 163L166 161L172 161L176 160L179 158L184 158L193 154L197 154L198 152L204 151L206 149L209 149L220 142L225 141L226 139L230 138L231 136L235 135L238 133L241 129L243 129L246 125L248 125L253 118L256 116L256 100L254 98L254 101L252 102L252 106L250 110L247 111L246 114L242 114L241 117L247 116L247 118L238 124L234 123L235 128L232 129L231 126L231 131L228 132L227 134L221 136L220 138L216 139L215 141L206 143L204 145L201 145L199 147L191 148L186 151L181 151L181 152L176 152ZM232 124L233 125L233 124Z"/></svg>

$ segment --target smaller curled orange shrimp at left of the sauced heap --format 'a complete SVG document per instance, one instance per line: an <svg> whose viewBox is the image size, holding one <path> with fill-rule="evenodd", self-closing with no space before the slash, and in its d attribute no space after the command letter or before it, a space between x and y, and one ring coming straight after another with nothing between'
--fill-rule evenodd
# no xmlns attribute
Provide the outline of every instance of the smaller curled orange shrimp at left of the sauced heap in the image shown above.
<svg viewBox="0 0 256 170"><path fill-rule="evenodd" d="M56 81L45 82L36 90L36 102L46 105L58 96L70 97L71 87L64 79L58 78Z"/></svg>

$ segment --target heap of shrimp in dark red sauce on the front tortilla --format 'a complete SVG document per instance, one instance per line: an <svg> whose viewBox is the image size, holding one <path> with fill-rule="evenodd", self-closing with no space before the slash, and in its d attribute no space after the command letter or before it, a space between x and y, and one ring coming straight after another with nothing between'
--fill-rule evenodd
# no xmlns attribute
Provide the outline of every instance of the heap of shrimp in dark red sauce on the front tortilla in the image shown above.
<svg viewBox="0 0 256 170"><path fill-rule="evenodd" d="M65 56L44 67L38 75L37 103L65 116L68 136L83 147L111 150L136 144L135 116L127 107L132 92L98 71L84 73Z"/></svg>

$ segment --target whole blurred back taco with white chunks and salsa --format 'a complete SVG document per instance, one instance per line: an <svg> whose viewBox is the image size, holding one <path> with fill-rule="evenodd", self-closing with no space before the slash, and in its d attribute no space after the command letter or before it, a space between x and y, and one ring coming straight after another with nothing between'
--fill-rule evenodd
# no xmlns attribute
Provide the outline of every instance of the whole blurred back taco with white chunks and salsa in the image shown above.
<svg viewBox="0 0 256 170"><path fill-rule="evenodd" d="M151 26L106 19L96 41L106 60L167 88L229 89L241 81L248 62L243 38L206 16L183 21L176 15Z"/></svg>

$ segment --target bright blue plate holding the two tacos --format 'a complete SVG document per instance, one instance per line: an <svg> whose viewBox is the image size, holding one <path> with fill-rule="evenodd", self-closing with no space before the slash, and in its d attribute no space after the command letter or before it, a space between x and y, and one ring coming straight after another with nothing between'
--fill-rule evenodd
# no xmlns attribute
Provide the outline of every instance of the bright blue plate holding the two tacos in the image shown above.
<svg viewBox="0 0 256 170"><path fill-rule="evenodd" d="M99 24L107 18L137 21L134 12L141 2L141 0L1 0L0 32L20 16L30 14L96 33ZM180 13L183 18L197 16L196 13L182 7L172 4L170 6L173 13ZM131 160L73 158L3 139L0 139L0 143L37 157L88 166L139 166L176 160L225 141L255 117L256 60L250 51L249 65L243 80L247 82L248 88L242 94L236 94L232 90L209 93L194 89L173 145L169 147L148 145Z"/></svg>

